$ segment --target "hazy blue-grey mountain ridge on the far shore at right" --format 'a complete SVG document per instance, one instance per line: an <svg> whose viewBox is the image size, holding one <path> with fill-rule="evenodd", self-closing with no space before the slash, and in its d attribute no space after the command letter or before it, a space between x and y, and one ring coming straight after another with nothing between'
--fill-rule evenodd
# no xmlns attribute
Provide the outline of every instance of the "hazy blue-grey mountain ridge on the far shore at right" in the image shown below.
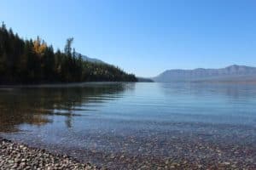
<svg viewBox="0 0 256 170"><path fill-rule="evenodd" d="M168 70L152 78L155 82L256 82L256 67L230 65L221 69Z"/></svg>

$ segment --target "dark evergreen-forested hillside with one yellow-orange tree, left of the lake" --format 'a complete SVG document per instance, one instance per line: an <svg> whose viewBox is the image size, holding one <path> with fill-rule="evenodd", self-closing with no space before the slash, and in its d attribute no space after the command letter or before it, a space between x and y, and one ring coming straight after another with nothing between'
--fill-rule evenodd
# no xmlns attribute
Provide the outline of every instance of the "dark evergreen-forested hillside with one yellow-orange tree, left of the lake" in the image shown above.
<svg viewBox="0 0 256 170"><path fill-rule="evenodd" d="M44 82L137 82L118 67L84 61L67 39L64 52L44 41L23 40L2 24L0 27L0 84Z"/></svg>

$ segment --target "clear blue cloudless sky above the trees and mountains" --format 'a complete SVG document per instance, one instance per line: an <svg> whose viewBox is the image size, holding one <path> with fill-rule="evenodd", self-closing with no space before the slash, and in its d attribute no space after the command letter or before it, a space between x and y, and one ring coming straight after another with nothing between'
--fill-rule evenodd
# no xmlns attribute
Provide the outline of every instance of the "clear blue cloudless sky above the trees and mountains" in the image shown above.
<svg viewBox="0 0 256 170"><path fill-rule="evenodd" d="M54 48L74 37L79 53L142 77L256 66L255 0L6 0L0 20Z"/></svg>

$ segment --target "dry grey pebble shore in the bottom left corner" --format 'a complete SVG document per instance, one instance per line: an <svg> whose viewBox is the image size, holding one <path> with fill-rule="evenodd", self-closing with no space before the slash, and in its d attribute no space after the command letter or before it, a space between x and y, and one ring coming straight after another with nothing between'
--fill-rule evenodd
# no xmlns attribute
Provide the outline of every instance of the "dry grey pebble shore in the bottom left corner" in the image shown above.
<svg viewBox="0 0 256 170"><path fill-rule="evenodd" d="M99 169L90 163L84 164L69 156L50 154L0 138L0 169Z"/></svg>

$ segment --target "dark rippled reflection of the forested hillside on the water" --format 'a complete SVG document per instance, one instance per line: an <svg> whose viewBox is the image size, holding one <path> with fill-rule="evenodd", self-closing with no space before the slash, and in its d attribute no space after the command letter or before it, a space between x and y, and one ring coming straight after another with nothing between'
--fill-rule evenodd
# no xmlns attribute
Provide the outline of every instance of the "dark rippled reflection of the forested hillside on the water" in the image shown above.
<svg viewBox="0 0 256 170"><path fill-rule="evenodd" d="M85 116L90 103L119 98L134 85L124 83L84 84L72 87L32 87L0 89L0 131L17 132L20 124L41 126L52 122L51 116L65 116L72 127L73 116Z"/></svg>

